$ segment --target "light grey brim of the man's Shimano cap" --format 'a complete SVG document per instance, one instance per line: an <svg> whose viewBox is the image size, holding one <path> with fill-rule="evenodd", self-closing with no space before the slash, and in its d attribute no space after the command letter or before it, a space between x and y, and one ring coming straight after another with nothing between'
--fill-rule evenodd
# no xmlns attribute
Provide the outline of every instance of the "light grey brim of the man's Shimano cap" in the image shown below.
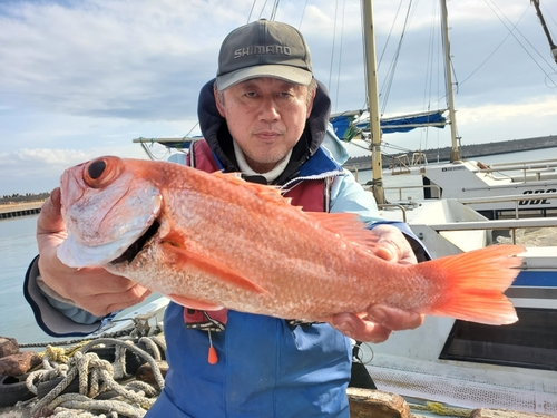
<svg viewBox="0 0 557 418"><path fill-rule="evenodd" d="M218 76L216 78L216 88L217 90L225 90L238 82L258 77L278 78L296 85L309 86L313 75L302 68L284 65L253 66Z"/></svg>

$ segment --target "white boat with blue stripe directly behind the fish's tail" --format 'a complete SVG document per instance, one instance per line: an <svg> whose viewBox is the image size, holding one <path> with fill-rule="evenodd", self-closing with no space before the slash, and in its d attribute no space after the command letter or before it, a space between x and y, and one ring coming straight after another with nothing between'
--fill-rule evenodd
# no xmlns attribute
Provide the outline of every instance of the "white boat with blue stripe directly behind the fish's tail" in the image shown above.
<svg viewBox="0 0 557 418"><path fill-rule="evenodd" d="M507 291L519 321L481 325L428 317L422 327L363 346L379 389L462 408L557 415L557 227L551 218L489 221L457 200L420 202L407 222L434 257L494 242L494 232L550 231L553 246L527 247ZM401 218L392 207L387 218Z"/></svg>

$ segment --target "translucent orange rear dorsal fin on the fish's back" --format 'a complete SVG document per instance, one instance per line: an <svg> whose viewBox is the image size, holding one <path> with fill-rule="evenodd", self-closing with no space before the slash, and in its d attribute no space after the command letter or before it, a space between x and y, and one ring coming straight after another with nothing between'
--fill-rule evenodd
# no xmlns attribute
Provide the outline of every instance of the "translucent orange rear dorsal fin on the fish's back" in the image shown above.
<svg viewBox="0 0 557 418"><path fill-rule="evenodd" d="M365 223L360 221L355 213L304 212L304 214L319 222L325 230L356 244L370 249L378 245L378 236L368 230Z"/></svg>

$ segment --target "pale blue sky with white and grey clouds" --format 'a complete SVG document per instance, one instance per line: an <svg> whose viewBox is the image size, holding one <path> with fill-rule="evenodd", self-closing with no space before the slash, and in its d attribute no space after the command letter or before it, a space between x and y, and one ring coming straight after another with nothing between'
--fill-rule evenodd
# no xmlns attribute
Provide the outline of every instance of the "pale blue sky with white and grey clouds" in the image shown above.
<svg viewBox="0 0 557 418"><path fill-rule="evenodd" d="M557 42L557 0L540 2ZM333 113L364 108L360 1L277 3L0 0L0 196L49 192L101 155L147 158L134 138L198 135L198 91L222 40L258 18L304 35ZM409 3L373 3L384 117L447 107L439 0ZM451 0L448 11L461 144L557 135L557 64L530 0ZM383 135L384 149L444 147L448 133ZM364 154L356 145L350 154Z"/></svg>

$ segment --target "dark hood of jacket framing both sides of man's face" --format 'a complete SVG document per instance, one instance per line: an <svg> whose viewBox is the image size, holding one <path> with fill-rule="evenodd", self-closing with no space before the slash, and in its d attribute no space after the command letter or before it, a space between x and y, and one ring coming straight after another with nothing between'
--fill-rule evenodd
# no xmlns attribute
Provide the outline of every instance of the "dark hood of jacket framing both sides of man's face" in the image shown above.
<svg viewBox="0 0 557 418"><path fill-rule="evenodd" d="M216 108L215 97L213 95L213 85L215 79L203 86L199 93L197 104L197 117L202 135L208 143L211 149L218 157L226 172L238 172L236 157L234 156L234 146L232 136L226 125L226 119L221 116ZM299 167L307 161L319 149L325 137L329 115L331 113L331 99L325 86L317 81L317 91L313 100L313 108L309 119L305 123L305 129L302 138L292 150L289 165L283 174L274 182L283 184L294 177Z"/></svg>

